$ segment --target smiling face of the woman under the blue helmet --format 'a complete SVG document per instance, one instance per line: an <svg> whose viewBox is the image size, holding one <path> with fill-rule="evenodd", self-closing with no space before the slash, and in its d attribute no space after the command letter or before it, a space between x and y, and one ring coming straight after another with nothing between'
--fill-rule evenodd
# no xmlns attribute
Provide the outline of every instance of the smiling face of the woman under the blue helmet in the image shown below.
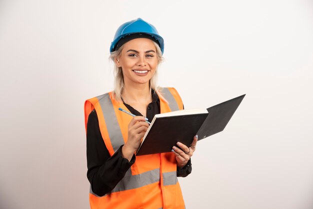
<svg viewBox="0 0 313 209"><path fill-rule="evenodd" d="M158 63L153 41L148 38L129 40L115 63L122 68L125 85L148 84Z"/></svg>

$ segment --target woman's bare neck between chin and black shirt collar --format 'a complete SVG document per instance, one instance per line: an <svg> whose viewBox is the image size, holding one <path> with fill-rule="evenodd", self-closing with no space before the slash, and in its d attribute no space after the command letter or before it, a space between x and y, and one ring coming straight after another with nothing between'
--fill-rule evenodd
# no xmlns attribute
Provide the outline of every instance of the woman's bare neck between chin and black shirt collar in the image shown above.
<svg viewBox="0 0 313 209"><path fill-rule="evenodd" d="M127 104L138 102L145 103L147 100L151 100L152 98L149 83L136 83L136 85L127 85L124 83L121 96Z"/></svg>

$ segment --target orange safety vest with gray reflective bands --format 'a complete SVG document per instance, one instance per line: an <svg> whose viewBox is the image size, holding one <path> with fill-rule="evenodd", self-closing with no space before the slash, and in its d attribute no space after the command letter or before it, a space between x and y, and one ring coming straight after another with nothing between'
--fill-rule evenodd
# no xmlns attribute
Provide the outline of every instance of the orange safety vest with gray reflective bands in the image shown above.
<svg viewBox="0 0 313 209"><path fill-rule="evenodd" d="M183 108L174 88L163 88L160 112ZM112 97L112 92L87 99L84 104L85 128L88 115L95 109L105 146L112 156L125 144L132 116L118 110L127 109ZM161 130L160 130L161 131ZM98 196L90 185L90 208L185 208L176 176L176 159L172 152L136 156L125 176L107 194Z"/></svg>

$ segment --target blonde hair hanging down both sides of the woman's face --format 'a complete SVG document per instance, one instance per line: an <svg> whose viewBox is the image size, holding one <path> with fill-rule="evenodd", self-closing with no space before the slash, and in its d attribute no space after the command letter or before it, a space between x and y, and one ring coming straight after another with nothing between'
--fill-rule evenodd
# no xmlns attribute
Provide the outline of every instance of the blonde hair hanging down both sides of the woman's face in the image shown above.
<svg viewBox="0 0 313 209"><path fill-rule="evenodd" d="M156 84L156 82L157 82L157 68L158 68L159 64L163 61L163 57L162 57L162 52L161 52L159 45L154 41L152 41L152 42L156 48L156 56L157 56L158 62L157 62L155 72L154 72L153 76L151 77L151 79L149 80L149 87L150 87L150 90L154 89L155 91L160 91L160 88ZM122 71L121 67L118 67L115 63L115 58L117 59L121 55L121 51L123 49L123 46L124 45L121 45L116 51L112 51L110 56L109 56L109 59L111 59L114 63L114 90L113 90L112 96L117 101L121 101L121 93L122 93L123 87L124 87L124 77L123 77L123 71Z"/></svg>

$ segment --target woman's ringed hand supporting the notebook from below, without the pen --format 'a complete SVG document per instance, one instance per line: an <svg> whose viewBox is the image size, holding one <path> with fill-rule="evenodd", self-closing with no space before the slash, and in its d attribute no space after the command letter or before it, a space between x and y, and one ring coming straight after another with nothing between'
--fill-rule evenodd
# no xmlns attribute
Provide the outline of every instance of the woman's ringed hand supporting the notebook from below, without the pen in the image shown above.
<svg viewBox="0 0 313 209"><path fill-rule="evenodd" d="M196 145L197 140L198 140L198 136L195 135L189 147L180 142L177 142L177 146L179 146L181 149L179 149L176 146L172 147L171 151L176 155L177 166L179 168L182 168L183 166L185 166L187 162L189 161L190 157L195 151L195 145Z"/></svg>

